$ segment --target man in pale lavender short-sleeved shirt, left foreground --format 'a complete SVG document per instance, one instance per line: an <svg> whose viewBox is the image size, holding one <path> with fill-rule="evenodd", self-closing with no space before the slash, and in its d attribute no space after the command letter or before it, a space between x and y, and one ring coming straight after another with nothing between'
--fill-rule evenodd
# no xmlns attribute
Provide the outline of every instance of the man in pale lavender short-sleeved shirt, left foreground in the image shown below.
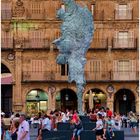
<svg viewBox="0 0 140 140"><path fill-rule="evenodd" d="M17 140L30 140L29 123L26 121L25 114L20 115L19 122L20 122L20 125L19 125L19 128L18 128L18 138L17 138Z"/></svg>

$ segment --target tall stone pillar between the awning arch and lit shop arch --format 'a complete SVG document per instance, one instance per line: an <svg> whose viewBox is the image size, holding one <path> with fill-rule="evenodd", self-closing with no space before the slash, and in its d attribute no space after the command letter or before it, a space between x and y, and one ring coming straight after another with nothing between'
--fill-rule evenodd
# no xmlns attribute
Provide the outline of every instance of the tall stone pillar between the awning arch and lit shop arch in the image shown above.
<svg viewBox="0 0 140 140"><path fill-rule="evenodd" d="M15 85L13 86L13 106L14 112L21 112L23 107L21 81L22 81L22 52L16 50L15 52Z"/></svg>

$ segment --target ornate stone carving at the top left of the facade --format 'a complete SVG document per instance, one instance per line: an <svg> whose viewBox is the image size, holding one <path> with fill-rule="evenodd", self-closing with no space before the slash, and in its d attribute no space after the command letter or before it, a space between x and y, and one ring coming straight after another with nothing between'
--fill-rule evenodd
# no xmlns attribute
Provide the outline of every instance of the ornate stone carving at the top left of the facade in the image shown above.
<svg viewBox="0 0 140 140"><path fill-rule="evenodd" d="M21 0L16 1L16 6L14 7L13 10L13 16L14 17L22 17L25 12L25 7L23 5L23 2Z"/></svg>

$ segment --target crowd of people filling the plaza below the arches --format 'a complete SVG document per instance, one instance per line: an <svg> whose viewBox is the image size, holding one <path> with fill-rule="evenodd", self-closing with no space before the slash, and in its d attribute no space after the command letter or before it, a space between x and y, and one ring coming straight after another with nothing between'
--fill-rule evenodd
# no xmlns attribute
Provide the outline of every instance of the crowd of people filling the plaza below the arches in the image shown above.
<svg viewBox="0 0 140 140"><path fill-rule="evenodd" d="M107 135L110 140L115 136L114 131L120 130L122 126L131 127L134 134L137 133L138 117L130 111L127 116L113 113L109 108L100 108L90 110L85 113L89 116L90 121L96 123L96 127L92 129L96 133L96 140L105 140ZM75 110L51 111L49 115L40 112L32 115L27 121L25 114L13 114L11 117L1 115L1 137L2 140L30 140L30 128L38 128L37 140L42 140L41 132L57 131L58 122L70 123L73 135L71 140L78 137L84 129L78 112Z"/></svg>

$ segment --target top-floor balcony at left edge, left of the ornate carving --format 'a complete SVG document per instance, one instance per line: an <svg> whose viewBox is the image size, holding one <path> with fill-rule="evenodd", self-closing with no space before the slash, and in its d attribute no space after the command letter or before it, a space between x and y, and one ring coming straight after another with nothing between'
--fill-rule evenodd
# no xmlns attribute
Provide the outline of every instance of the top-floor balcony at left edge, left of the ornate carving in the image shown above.
<svg viewBox="0 0 140 140"><path fill-rule="evenodd" d="M2 20L12 19L12 11L11 10L1 10L1 19Z"/></svg>

